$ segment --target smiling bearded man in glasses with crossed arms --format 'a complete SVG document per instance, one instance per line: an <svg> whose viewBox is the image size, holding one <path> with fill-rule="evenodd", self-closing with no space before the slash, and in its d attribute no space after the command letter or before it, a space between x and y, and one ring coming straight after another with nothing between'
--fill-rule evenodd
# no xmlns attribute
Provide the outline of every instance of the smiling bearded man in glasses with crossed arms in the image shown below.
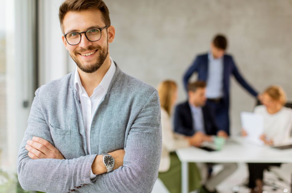
<svg viewBox="0 0 292 193"><path fill-rule="evenodd" d="M161 157L157 91L123 73L109 56L115 28L102 0L66 0L59 18L77 67L35 93L18 153L21 186L151 192Z"/></svg>

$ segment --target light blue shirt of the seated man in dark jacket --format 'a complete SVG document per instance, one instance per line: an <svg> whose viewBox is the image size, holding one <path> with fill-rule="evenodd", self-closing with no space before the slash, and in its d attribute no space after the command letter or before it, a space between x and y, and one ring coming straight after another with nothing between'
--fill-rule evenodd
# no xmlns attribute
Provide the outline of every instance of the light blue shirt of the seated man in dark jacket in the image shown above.
<svg viewBox="0 0 292 193"><path fill-rule="evenodd" d="M205 129L204 129L204 119L203 119L203 111L202 111L202 107L196 107L193 104L190 104L191 107L191 115L193 118L193 130L195 132L203 132L205 133Z"/></svg>

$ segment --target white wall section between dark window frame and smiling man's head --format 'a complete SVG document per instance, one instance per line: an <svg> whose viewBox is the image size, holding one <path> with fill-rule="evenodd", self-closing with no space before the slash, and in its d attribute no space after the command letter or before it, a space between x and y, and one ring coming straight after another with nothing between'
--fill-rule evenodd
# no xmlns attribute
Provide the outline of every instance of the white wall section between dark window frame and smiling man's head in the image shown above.
<svg viewBox="0 0 292 193"><path fill-rule="evenodd" d="M69 54L58 18L63 0L38 0L38 86L68 73Z"/></svg>

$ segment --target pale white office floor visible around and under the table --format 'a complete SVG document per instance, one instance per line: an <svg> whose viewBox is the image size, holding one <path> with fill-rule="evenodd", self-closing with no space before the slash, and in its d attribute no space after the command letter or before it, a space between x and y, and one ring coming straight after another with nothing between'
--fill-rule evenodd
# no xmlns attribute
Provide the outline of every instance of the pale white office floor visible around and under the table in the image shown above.
<svg viewBox="0 0 292 193"><path fill-rule="evenodd" d="M279 170L282 171L282 175L284 175L287 182L291 183L291 173L292 173L292 166L291 164L288 165L282 165L282 169ZM264 178L266 179L275 179L275 175L269 173L264 174ZM226 180L224 180L218 187L217 191L220 193L233 193L233 189L237 185L241 185L247 182L248 179L248 169L246 164L239 164L238 169L230 175ZM268 182L268 180L266 180ZM263 193L283 193L283 192L291 192L291 186L287 185L285 182L277 182L277 185L282 188L282 190L273 190L270 187L264 186L264 190L266 192ZM287 188L287 191L284 191L284 189ZM163 183L161 181L157 181L152 193L167 193L168 191L164 187ZM247 187L240 187L238 193L249 193L250 190Z"/></svg>

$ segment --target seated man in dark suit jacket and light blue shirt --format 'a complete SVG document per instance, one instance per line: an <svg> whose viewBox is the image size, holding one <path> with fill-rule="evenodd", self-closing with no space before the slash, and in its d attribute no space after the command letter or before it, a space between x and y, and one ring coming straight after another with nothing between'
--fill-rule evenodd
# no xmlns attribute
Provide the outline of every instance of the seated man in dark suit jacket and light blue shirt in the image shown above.
<svg viewBox="0 0 292 193"><path fill-rule="evenodd" d="M212 141L212 136L218 135L220 130L215 124L214 117L206 106L206 83L196 81L187 86L188 101L176 106L174 114L174 130L186 136L195 135L196 146L203 141ZM209 192L216 192L216 186L233 173L237 165L235 163L222 163L224 169L217 175L209 178L203 188ZM212 166L214 164L208 164Z"/></svg>

